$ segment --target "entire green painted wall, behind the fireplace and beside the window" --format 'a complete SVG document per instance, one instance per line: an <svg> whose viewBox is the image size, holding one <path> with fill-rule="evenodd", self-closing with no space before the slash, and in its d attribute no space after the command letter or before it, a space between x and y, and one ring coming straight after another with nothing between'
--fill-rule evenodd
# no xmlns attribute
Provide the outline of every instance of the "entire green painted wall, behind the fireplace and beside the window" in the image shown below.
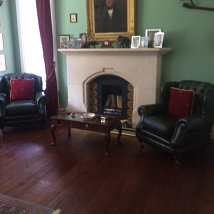
<svg viewBox="0 0 214 214"><path fill-rule="evenodd" d="M78 37L86 32L86 0L55 0L56 34ZM182 7L184 0L136 0L136 35L145 29L162 28L164 46L173 51L163 60L162 81L194 79L214 84L214 12ZM197 0L200 5L214 7L213 0ZM70 13L78 14L78 22L70 23ZM0 7L0 32L4 34L7 72L19 72L20 56L17 40L15 0L5 0ZM65 56L58 53L60 104L67 106L67 73Z"/></svg>

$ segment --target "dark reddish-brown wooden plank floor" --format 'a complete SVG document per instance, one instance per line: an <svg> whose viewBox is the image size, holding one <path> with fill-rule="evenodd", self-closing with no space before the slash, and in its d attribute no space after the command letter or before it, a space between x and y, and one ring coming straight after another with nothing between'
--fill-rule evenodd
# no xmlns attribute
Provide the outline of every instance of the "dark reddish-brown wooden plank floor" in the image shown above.
<svg viewBox="0 0 214 214"><path fill-rule="evenodd" d="M214 145L184 157L183 165L135 137L112 135L105 157L101 133L7 128L1 134L0 193L62 214L212 214Z"/></svg>

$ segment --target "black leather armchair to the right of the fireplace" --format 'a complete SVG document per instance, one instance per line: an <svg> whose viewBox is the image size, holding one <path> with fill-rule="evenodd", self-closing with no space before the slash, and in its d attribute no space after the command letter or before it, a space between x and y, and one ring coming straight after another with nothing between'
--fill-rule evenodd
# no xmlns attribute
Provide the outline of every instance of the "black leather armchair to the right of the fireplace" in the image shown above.
<svg viewBox="0 0 214 214"><path fill-rule="evenodd" d="M178 118L168 115L170 87L194 90L191 116ZM178 163L183 153L204 147L210 141L214 119L214 85L191 80L167 82L161 88L161 102L140 106L138 114L140 121L136 136L139 141L173 154Z"/></svg>

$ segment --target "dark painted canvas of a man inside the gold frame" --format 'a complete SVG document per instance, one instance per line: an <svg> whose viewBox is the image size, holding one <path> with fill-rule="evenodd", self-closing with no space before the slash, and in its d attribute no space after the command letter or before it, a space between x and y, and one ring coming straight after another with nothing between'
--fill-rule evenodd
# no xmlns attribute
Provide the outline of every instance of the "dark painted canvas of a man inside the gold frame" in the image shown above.
<svg viewBox="0 0 214 214"><path fill-rule="evenodd" d="M94 11L96 33L127 31L127 0L95 0Z"/></svg>

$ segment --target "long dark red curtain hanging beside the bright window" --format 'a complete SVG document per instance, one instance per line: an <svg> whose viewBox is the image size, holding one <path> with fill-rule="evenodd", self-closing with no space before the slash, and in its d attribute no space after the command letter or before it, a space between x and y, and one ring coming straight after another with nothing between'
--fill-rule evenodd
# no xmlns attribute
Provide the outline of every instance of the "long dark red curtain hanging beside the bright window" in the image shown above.
<svg viewBox="0 0 214 214"><path fill-rule="evenodd" d="M36 0L40 36L43 47L43 56L46 70L46 90L49 103L48 116L55 115L58 109L58 93L53 59L53 33L51 25L51 9L49 0Z"/></svg>

